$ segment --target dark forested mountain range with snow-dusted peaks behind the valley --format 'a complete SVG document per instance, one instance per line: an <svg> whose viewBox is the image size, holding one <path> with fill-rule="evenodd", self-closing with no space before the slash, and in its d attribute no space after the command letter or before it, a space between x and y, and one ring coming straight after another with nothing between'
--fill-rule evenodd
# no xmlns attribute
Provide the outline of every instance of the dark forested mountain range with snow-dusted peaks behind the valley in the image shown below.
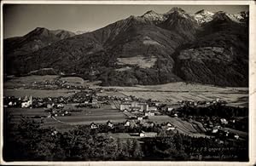
<svg viewBox="0 0 256 166"><path fill-rule="evenodd" d="M248 12L150 10L79 35L36 28L3 44L7 74L53 68L105 86L248 86Z"/></svg>

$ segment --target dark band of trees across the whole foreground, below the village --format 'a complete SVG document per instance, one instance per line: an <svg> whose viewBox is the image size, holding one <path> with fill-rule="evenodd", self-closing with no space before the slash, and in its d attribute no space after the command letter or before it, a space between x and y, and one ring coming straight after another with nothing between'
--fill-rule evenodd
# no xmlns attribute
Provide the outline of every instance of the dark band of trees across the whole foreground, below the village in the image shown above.
<svg viewBox="0 0 256 166"><path fill-rule="evenodd" d="M137 139L113 138L89 126L58 132L27 117L18 124L9 123L11 118L5 117L6 161L189 160L197 155L202 159L217 156L247 161L248 157L247 140L220 144L214 138L194 138L162 129L157 137L143 138L139 143Z"/></svg>

